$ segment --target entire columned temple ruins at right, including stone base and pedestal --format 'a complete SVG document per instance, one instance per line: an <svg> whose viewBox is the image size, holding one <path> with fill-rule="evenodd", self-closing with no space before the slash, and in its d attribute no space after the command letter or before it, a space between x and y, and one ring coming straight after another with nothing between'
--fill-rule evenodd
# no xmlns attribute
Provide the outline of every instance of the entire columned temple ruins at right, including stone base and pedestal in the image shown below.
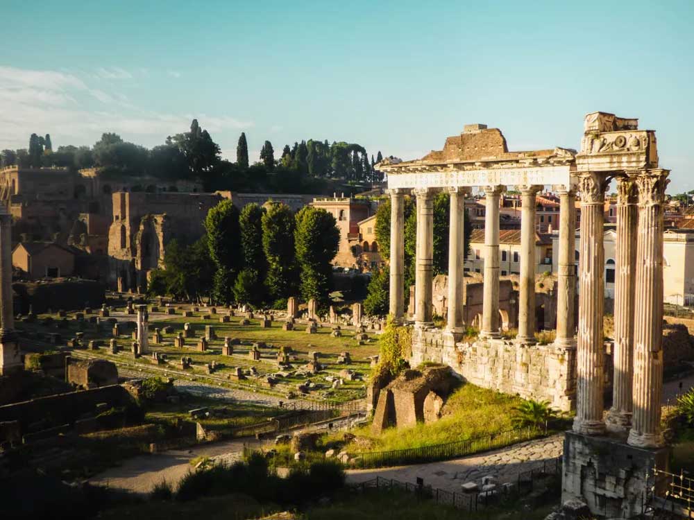
<svg viewBox="0 0 694 520"><path fill-rule="evenodd" d="M607 517L641 513L658 483L668 449L660 431L663 384L663 206L668 171L659 168L655 133L636 119L604 112L584 120L581 150L509 152L498 129L466 125L441 151L422 159L380 163L391 196L390 313L404 322L404 196L416 196L416 284L413 365L443 362L464 379L523 397L575 408L566 434L562 501L579 499ZM604 419L604 197L618 192L613 352L613 407ZM537 345L534 222L536 194L552 186L560 195L557 331L552 345ZM480 336L462 343L464 195L473 187L486 199L484 305ZM499 309L499 197L521 192L521 275L518 335L501 337ZM437 329L432 315L434 193L450 193L448 315ZM575 201L582 214L575 323ZM638 298L635 293L638 291ZM412 309L410 309L412 310Z"/></svg>

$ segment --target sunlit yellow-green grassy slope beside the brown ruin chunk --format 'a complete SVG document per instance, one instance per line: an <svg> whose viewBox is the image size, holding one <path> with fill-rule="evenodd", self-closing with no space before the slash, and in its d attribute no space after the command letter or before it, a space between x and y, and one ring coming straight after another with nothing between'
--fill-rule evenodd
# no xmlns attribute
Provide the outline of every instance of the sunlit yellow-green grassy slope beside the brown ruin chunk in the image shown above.
<svg viewBox="0 0 694 520"><path fill-rule="evenodd" d="M439 421L412 428L388 428L380 435L372 433L371 425L364 426L353 431L357 440L347 451L418 448L509 430L513 427L511 408L521 401L520 397L466 383L448 397Z"/></svg>

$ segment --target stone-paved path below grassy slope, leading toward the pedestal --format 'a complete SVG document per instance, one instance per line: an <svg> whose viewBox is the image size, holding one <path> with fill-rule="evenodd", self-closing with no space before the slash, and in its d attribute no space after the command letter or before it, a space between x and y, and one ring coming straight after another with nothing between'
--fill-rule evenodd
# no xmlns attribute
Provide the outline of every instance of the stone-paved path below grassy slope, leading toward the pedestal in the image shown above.
<svg viewBox="0 0 694 520"><path fill-rule="evenodd" d="M514 482L519 473L541 469L545 462L559 457L563 447L564 434L561 433L455 460L380 469L353 469L347 471L347 481L359 483L380 476L414 484L419 477L424 479L425 485L460 492L462 484L471 480L479 484L481 478L487 475L494 476L499 483Z"/></svg>

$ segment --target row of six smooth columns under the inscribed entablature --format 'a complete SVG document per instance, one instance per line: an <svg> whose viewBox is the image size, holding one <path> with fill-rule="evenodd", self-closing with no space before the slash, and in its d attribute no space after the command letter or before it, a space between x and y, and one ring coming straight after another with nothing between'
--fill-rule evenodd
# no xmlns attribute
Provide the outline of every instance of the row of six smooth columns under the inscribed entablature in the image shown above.
<svg viewBox="0 0 694 520"><path fill-rule="evenodd" d="M519 297L518 341L534 343L535 332L535 212L536 195L540 186L527 186L521 190L521 287ZM448 238L448 320L446 332L457 336L464 329L463 263L466 187L450 187L450 223ZM500 337L499 314L499 215L500 196L504 187L484 188L486 214L484 225L484 302L482 311L482 338ZM405 270L405 195L409 190L391 189L391 248L390 248L390 313L396 322L404 318L404 270ZM415 259L415 309L416 324L427 327L432 324L432 267L434 236L434 188L414 189L417 211L417 238ZM575 275L573 250L575 241L575 194L561 192L561 216L559 225L559 298L557 315L557 340L564 347L575 345L573 318Z"/></svg>

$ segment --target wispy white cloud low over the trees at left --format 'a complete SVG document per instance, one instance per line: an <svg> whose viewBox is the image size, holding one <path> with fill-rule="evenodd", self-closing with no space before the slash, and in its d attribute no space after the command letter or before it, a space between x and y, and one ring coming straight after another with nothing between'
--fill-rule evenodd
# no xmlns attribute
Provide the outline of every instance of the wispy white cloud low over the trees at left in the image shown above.
<svg viewBox="0 0 694 520"><path fill-rule="evenodd" d="M126 79L127 71L113 67L103 71L97 88L90 84L94 78L90 81L88 76L82 79L66 71L0 67L0 149L26 147L32 132L50 133L60 144L88 144L101 132L163 141L188 128L194 118L210 132L253 126L253 121L232 116L162 114L139 107L119 92L119 81Z"/></svg>

